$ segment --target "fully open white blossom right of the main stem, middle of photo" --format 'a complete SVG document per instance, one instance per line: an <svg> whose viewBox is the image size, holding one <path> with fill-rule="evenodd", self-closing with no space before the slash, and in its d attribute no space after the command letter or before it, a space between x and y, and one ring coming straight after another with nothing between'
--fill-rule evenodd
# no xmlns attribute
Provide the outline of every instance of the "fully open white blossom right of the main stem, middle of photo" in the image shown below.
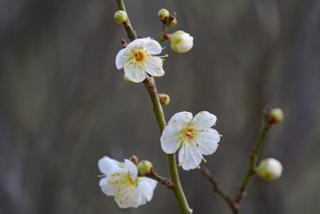
<svg viewBox="0 0 320 214"><path fill-rule="evenodd" d="M216 117L207 111L197 113L193 119L190 112L174 114L164 128L160 141L167 154L179 150L179 166L189 170L200 168L202 155L215 152L220 137L219 133L210 128L215 125Z"/></svg>

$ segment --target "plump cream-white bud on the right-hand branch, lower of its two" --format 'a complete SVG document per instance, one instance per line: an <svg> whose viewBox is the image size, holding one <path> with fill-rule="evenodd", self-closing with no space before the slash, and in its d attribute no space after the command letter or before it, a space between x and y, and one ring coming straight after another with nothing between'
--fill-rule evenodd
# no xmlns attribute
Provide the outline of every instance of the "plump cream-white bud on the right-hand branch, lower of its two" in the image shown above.
<svg viewBox="0 0 320 214"><path fill-rule="evenodd" d="M259 177L272 181L281 177L282 165L274 158L266 158L260 161L259 165L253 168L255 174Z"/></svg>

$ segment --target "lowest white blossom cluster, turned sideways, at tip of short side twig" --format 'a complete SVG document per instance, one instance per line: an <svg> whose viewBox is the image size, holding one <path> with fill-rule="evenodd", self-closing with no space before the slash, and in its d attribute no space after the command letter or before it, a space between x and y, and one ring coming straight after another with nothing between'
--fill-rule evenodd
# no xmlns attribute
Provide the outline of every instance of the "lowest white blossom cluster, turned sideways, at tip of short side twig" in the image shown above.
<svg viewBox="0 0 320 214"><path fill-rule="evenodd" d="M120 208L138 207L150 201L157 181L147 177L137 177L136 165L124 159L124 163L103 156L98 161L103 176L99 185L106 195L114 195Z"/></svg>

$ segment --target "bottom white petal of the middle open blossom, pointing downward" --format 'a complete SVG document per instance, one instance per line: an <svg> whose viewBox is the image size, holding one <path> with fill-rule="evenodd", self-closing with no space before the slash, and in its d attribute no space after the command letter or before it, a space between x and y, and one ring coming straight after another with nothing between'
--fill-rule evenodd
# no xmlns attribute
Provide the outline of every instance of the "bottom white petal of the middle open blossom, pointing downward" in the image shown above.
<svg viewBox="0 0 320 214"><path fill-rule="evenodd" d="M179 163L184 170L194 169L201 163L202 156L193 144L183 145L179 150Z"/></svg>

